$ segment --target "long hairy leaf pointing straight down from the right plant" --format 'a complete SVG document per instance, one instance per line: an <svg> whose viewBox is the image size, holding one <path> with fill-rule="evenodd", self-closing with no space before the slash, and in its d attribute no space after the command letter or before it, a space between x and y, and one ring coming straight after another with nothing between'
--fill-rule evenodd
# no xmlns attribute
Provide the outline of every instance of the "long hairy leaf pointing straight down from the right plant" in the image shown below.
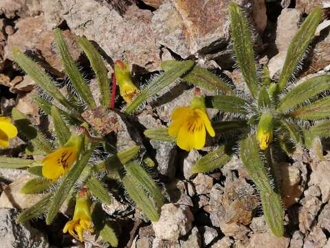
<svg viewBox="0 0 330 248"><path fill-rule="evenodd" d="M259 189L268 227L270 227L270 230L276 237L282 237L284 233L284 211L281 203L281 196L274 192L272 188L267 169L259 156L256 136L249 136L241 141L241 159L250 178Z"/></svg>

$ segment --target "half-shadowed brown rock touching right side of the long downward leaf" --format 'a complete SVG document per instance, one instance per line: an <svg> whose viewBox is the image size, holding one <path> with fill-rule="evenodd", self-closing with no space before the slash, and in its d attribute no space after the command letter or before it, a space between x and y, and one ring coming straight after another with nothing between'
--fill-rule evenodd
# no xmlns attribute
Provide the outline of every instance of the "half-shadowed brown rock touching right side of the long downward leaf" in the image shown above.
<svg viewBox="0 0 330 248"><path fill-rule="evenodd" d="M283 204L288 208L299 200L304 191L300 185L300 171L295 164L281 163L278 167L281 169Z"/></svg>

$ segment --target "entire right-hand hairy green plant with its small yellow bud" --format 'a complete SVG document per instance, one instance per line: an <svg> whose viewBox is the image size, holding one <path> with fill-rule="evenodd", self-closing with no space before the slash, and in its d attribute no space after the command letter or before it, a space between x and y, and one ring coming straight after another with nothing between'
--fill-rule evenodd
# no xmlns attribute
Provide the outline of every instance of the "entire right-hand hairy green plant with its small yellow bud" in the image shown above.
<svg viewBox="0 0 330 248"><path fill-rule="evenodd" d="M330 136L330 122L327 120L330 116L330 100L324 94L330 89L330 75L314 76L299 85L294 84L294 74L314 37L322 10L312 10L300 26L289 45L278 81L270 79L266 66L263 73L259 74L248 20L236 3L230 3L229 13L236 63L247 90L238 90L234 85L223 87L219 89L222 94L206 96L206 107L221 110L225 116L223 121L212 123L216 134L237 135L219 149L203 156L191 171L209 172L222 167L230 161L234 150L232 143L239 145L241 161L258 188L266 223L275 236L281 237L284 234L284 211L276 155L281 150L291 154L298 145L311 147L314 138ZM166 61L162 66L167 71L180 63ZM188 72L183 79L200 87L205 87L205 83L208 86L205 88L210 90L211 81L216 80L217 76L206 72L209 76L200 76L197 84L194 70L203 70L197 68ZM164 129L146 130L144 134L157 140L174 141ZM233 142L235 137L236 141Z"/></svg>

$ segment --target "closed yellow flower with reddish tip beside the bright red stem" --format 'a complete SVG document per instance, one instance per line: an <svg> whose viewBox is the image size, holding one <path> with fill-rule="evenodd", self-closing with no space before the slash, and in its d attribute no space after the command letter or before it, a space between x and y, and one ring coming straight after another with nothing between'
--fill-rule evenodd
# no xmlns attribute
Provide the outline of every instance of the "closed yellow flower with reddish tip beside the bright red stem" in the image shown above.
<svg viewBox="0 0 330 248"><path fill-rule="evenodd" d="M120 96L126 103L131 103L135 94L140 93L140 90L134 85L129 66L126 63L115 61L115 79L119 85Z"/></svg>

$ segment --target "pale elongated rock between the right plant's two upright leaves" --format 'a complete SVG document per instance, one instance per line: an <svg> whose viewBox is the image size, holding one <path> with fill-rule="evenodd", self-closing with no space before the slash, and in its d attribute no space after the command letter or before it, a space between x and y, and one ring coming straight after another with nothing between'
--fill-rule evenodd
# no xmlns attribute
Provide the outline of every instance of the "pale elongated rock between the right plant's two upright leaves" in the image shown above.
<svg viewBox="0 0 330 248"><path fill-rule="evenodd" d="M289 48L289 44L298 31L300 18L301 12L294 8L283 9L278 17L275 41L278 54L272 57L268 63L271 78L281 73L287 55L287 48Z"/></svg>

